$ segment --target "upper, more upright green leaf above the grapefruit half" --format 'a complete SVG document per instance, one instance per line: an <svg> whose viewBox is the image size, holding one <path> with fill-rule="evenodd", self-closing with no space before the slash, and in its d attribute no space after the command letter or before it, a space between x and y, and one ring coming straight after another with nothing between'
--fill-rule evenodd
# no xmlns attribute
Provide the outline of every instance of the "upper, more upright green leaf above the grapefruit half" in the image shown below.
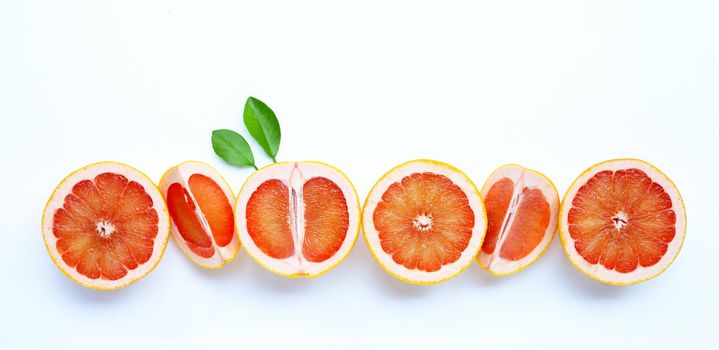
<svg viewBox="0 0 719 350"><path fill-rule="evenodd" d="M281 133L275 112L264 102L250 96L245 103L243 119L250 135L257 140L272 161L277 163L275 156L280 148Z"/></svg>

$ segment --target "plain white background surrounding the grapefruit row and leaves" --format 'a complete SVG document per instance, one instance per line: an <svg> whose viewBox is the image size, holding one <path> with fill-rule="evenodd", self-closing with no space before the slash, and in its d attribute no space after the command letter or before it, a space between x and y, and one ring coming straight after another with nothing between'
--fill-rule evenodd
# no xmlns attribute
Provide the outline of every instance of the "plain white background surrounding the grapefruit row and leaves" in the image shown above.
<svg viewBox="0 0 719 350"><path fill-rule="evenodd" d="M0 348L716 349L718 3L441 3L2 0ZM646 159L684 196L684 248L623 288L584 277L557 239L518 275L473 265L432 287L394 280L361 240L316 280L244 251L208 271L173 242L116 292L53 266L42 209L87 163L157 181L199 159L239 190L251 171L223 164L210 132L246 134L248 95L279 117L279 160L336 165L362 200L413 158L479 185L516 162L560 194L598 161Z"/></svg>

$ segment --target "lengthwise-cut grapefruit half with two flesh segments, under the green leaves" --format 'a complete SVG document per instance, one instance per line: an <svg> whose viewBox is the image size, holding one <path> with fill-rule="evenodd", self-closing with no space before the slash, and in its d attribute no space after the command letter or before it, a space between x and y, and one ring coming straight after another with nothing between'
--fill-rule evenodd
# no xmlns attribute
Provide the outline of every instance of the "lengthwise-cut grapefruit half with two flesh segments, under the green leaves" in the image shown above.
<svg viewBox="0 0 719 350"><path fill-rule="evenodd" d="M235 206L247 253L270 271L315 277L349 254L359 199L339 170L318 162L277 163L250 176Z"/></svg>

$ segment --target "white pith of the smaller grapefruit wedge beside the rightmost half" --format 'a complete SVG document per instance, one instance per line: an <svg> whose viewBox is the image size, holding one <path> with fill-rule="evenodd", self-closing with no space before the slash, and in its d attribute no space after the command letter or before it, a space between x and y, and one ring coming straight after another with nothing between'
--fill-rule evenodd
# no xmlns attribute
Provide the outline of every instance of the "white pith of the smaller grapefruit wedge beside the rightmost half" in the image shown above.
<svg viewBox="0 0 719 350"><path fill-rule="evenodd" d="M492 188L492 185L503 178L508 178L514 183L512 199L509 202L509 208L507 208L502 227L499 230L497 244L494 247L494 251L492 254L486 254L484 251L480 250L478 255L480 265L497 275L509 274L521 270L542 255L549 243L552 241L554 232L557 230L557 214L559 212L559 195L552 183L541 174L514 164L500 167L489 176L489 179L487 179L484 187L482 187L482 198L486 198L487 193L489 193L489 190ZM500 250L505 243L506 233L514 223L514 218L516 217L515 211L521 203L521 193L524 188L538 189L542 192L542 194L544 194L544 197L549 203L549 212L551 217L547 230L544 233L544 237L539 244L537 244L537 246L529 254L527 254L527 256L519 260L509 260L500 255Z"/></svg>

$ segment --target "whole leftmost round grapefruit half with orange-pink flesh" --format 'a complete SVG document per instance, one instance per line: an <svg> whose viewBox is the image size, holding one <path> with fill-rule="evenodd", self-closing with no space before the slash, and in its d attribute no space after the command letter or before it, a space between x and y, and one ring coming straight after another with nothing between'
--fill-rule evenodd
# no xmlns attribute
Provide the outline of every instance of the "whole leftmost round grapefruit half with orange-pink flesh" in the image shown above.
<svg viewBox="0 0 719 350"><path fill-rule="evenodd" d="M50 257L73 281L116 289L148 274L169 237L165 201L130 166L101 162L68 175L45 206L42 236Z"/></svg>

